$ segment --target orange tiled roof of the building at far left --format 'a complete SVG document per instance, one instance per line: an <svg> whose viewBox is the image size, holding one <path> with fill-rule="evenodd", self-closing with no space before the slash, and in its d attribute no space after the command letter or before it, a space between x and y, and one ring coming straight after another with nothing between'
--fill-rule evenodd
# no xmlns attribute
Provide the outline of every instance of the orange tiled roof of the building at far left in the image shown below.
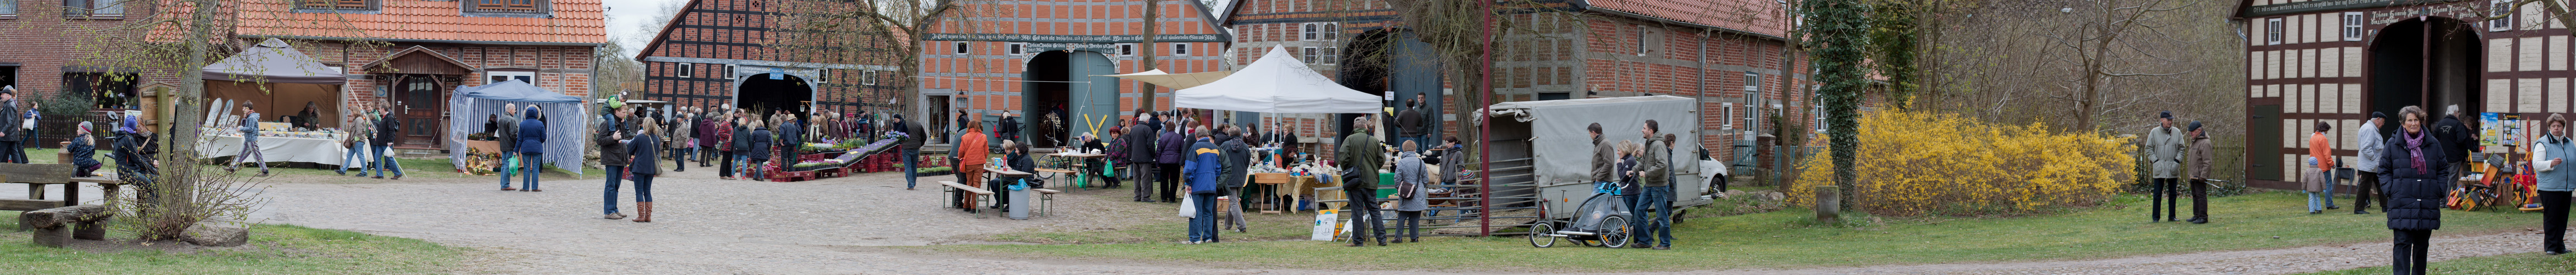
<svg viewBox="0 0 2576 275"><path fill-rule="evenodd" d="M294 0L242 0L240 36L332 36L399 41L608 44L600 0L551 0L551 18L466 18L459 0L381 0L366 13L291 13Z"/></svg>

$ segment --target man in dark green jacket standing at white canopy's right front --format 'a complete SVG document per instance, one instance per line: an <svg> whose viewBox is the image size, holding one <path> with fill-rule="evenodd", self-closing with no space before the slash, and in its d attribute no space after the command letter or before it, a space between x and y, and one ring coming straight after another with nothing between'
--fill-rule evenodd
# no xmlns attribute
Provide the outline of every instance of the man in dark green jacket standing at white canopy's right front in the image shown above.
<svg viewBox="0 0 2576 275"><path fill-rule="evenodd" d="M1386 226L1378 224L1378 167L1386 164L1386 146L1378 136L1368 136L1368 116L1350 121L1350 136L1342 139L1342 152L1334 154L1334 164L1342 164L1342 198L1350 198L1350 247L1363 247L1368 242L1365 231L1376 229L1378 247L1386 247Z"/></svg>

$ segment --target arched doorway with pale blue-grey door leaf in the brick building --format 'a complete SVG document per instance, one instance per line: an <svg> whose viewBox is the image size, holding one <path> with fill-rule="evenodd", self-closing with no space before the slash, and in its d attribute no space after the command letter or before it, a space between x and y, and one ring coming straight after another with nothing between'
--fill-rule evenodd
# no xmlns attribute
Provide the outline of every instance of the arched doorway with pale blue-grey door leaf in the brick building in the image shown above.
<svg viewBox="0 0 2576 275"><path fill-rule="evenodd" d="M1020 141L1064 146L1079 134L1118 126L1118 75L1100 51L1041 51L1020 72Z"/></svg>

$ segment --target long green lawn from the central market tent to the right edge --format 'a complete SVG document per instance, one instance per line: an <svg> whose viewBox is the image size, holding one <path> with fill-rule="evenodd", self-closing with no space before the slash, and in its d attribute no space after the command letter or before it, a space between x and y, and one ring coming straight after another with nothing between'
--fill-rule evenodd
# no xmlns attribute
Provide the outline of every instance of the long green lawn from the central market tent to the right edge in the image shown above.
<svg viewBox="0 0 2576 275"><path fill-rule="evenodd" d="M2342 198L2342 203L2352 203ZM1368 267L1504 270L1504 272L1618 272L1618 270L1744 270L1744 267L1857 267L1935 262L2107 260L2138 254L2277 249L2313 244L2383 242L2385 216L2306 211L2306 195L2254 193L2213 198L2213 224L2148 224L2146 198L2120 195L2107 208L2014 218L1886 218L1847 216L1857 224L1814 226L1811 211L1785 208L1747 216L1690 218L1674 226L1674 249L1535 249L1520 236L1443 236L1425 244L1340 247L1334 242L1226 242L1177 244L1180 221L1115 231L999 234L997 242L925 247L958 254L1213 262L1226 267L1332 267L1316 262L1370 260ZM1167 206L1141 208L1170 216ZM2187 206L2184 206L2187 211ZM1309 216L1311 218L1311 216ZM2494 234L2537 224L2537 213L2450 211L2442 234ZM1252 239L1303 236L1306 218L1255 221ZM1069 239L1069 242L1046 242ZM1141 239L1141 242L1139 242ZM1229 236L1231 239L1231 236ZM1123 244L1092 244L1123 242ZM1260 257L1244 257L1260 254Z"/></svg>

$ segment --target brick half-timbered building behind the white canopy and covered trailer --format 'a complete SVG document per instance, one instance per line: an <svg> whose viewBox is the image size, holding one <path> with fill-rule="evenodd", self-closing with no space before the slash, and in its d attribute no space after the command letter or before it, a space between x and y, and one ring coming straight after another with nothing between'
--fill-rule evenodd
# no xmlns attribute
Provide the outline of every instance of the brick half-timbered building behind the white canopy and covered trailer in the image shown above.
<svg viewBox="0 0 2576 275"><path fill-rule="evenodd" d="M1713 157L1736 154L1749 144L1754 105L1803 105L1806 75L1780 72L1788 46L1785 5L1770 0L1538 0L1533 13L1499 15L1528 31L1510 31L1494 44L1494 100L1564 100L1685 95L1703 98L1700 146ZM1473 131L1448 95L1471 93L1440 72L1422 41L1404 31L1394 5L1383 0L1236 0L1226 10L1236 33L1226 51L1231 64L1249 64L1270 46L1288 46L1327 77L1363 90L1396 93L1396 100L1427 95L1427 113L1443 113L1443 136ZM1466 64L1473 67L1473 64ZM1806 69L1803 59L1798 64ZM1798 80L1798 82L1788 82ZM1334 136L1324 116L1283 116L1298 136ZM1767 131L1770 126L1765 126ZM1690 134L1690 131L1674 131Z"/></svg>

